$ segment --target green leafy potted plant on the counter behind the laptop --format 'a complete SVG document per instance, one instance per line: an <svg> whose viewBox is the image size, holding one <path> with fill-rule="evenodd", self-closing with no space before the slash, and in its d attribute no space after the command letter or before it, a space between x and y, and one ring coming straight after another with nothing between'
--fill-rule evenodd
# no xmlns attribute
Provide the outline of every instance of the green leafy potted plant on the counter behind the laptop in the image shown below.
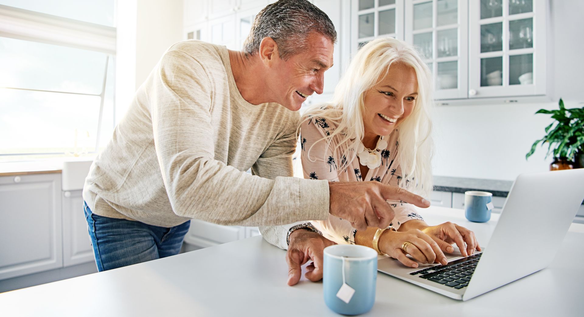
<svg viewBox="0 0 584 317"><path fill-rule="evenodd" d="M545 158L552 151L554 154L554 162L551 163L550 170L584 168L584 107L566 109L564 100L560 98L558 110L540 109L537 110L536 114L538 113L551 114L555 121L545 127L547 134L531 145L531 150L525 155L525 159L536 151L537 144L541 142L542 147L545 143L548 144Z"/></svg>

